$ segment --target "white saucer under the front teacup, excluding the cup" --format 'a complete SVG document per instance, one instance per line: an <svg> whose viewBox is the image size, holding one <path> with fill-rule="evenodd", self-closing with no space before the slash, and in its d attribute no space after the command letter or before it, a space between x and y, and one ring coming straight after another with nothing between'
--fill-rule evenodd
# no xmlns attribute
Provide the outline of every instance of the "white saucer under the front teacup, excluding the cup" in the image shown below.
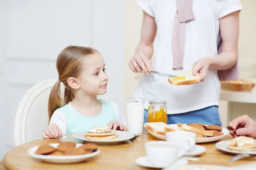
<svg viewBox="0 0 256 170"><path fill-rule="evenodd" d="M138 165L143 166L143 167L160 168L160 169L164 168L163 166L157 166L157 165L151 164L150 162L147 161L146 156L141 156L141 157L137 158L135 161ZM167 167L180 167L180 166L184 166L188 163L189 163L188 160L186 160L184 158L180 158L180 159L177 159L173 164L168 165Z"/></svg>

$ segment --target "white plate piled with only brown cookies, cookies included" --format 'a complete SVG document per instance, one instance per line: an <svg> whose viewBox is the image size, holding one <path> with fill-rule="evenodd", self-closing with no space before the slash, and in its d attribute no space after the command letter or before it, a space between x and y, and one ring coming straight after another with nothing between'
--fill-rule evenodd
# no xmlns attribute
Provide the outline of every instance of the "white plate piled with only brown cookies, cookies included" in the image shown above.
<svg viewBox="0 0 256 170"><path fill-rule="evenodd" d="M90 157L98 155L100 150L96 144L62 142L31 147L28 153L40 161L68 164L85 161Z"/></svg>

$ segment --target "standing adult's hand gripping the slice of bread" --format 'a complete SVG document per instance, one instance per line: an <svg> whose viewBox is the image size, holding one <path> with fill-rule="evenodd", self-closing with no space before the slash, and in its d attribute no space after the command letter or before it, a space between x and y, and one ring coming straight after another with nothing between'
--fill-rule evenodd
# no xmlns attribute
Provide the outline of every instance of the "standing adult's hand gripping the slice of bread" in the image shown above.
<svg viewBox="0 0 256 170"><path fill-rule="evenodd" d="M192 74L195 76L199 73L200 75L200 82L203 82L206 79L207 71L210 66L210 59L211 57L204 57L199 59L197 62L194 63L192 68Z"/></svg>

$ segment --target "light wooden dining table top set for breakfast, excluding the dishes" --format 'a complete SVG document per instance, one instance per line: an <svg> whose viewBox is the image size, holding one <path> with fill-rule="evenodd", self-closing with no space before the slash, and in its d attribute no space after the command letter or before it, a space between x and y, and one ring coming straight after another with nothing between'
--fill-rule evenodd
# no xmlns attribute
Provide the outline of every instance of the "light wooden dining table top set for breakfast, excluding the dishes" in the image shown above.
<svg viewBox="0 0 256 170"><path fill-rule="evenodd" d="M221 140L233 138L228 135ZM116 145L99 145L99 155L74 164L53 164L43 161L38 161L29 156L27 150L31 147L41 144L59 143L57 139L38 139L25 144L21 144L6 153L3 164L6 170L34 170L34 169L51 169L51 170L150 170L150 168L141 167L136 164L135 160L140 156L145 156L144 144L147 141L157 140L154 136L143 131L143 135L137 139L128 140L122 144ZM219 140L219 141L221 141ZM233 163L228 160L234 155L218 150L215 144L219 141L198 143L206 147L206 152L203 153L200 161L189 161L189 164L214 164L227 167L246 164L250 161L255 161L253 158L244 158Z"/></svg>

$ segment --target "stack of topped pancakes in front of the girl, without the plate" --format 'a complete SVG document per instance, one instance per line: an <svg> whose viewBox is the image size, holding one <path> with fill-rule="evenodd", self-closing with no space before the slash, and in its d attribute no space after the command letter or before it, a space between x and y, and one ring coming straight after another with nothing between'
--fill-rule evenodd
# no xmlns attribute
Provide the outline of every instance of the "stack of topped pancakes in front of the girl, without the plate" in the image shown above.
<svg viewBox="0 0 256 170"><path fill-rule="evenodd" d="M119 136L116 135L115 130L110 130L108 126L97 126L94 127L89 132L85 133L87 139L91 140L112 140L119 139Z"/></svg>

